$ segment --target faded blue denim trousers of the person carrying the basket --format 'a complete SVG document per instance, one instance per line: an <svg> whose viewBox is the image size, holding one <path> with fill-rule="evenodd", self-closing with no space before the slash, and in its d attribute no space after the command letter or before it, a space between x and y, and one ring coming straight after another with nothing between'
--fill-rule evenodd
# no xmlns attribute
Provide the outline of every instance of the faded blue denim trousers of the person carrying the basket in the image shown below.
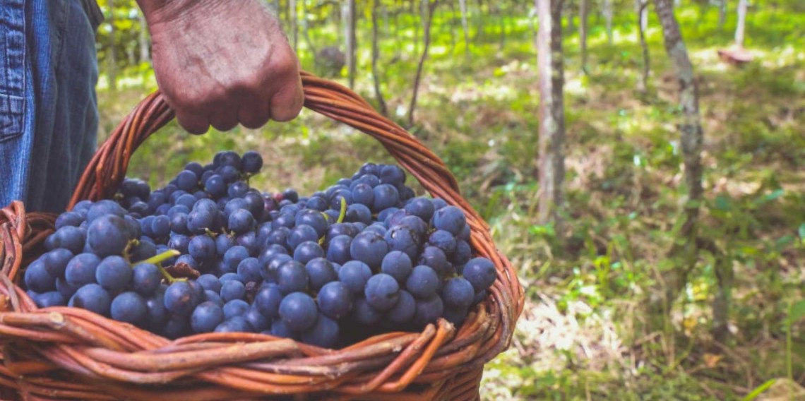
<svg viewBox="0 0 805 401"><path fill-rule="evenodd" d="M0 47L0 93L10 82L17 92L6 94L22 100L19 114L0 109L0 122L19 126L0 138L0 205L20 199L29 210L64 211L96 147L99 21L82 0L0 5L0 42L14 46Z"/></svg>

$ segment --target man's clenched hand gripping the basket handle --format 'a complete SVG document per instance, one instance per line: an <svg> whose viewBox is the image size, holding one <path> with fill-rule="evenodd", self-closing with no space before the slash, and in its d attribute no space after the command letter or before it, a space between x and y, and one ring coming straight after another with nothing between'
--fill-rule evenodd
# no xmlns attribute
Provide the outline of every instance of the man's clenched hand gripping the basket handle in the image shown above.
<svg viewBox="0 0 805 401"><path fill-rule="evenodd" d="M258 128L299 114L299 60L262 2L137 1L157 83L185 130Z"/></svg>

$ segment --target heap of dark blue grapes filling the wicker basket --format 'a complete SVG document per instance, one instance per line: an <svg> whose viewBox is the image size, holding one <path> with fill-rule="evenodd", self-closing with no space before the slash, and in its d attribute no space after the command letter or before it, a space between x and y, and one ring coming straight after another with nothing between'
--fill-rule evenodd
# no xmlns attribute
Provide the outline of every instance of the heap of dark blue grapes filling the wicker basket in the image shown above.
<svg viewBox="0 0 805 401"><path fill-rule="evenodd" d="M311 196L251 188L261 168L254 151L222 151L164 188L126 178L113 200L76 204L25 270L28 295L169 338L336 347L440 317L460 325L496 279L464 213L415 196L398 166L365 163Z"/></svg>

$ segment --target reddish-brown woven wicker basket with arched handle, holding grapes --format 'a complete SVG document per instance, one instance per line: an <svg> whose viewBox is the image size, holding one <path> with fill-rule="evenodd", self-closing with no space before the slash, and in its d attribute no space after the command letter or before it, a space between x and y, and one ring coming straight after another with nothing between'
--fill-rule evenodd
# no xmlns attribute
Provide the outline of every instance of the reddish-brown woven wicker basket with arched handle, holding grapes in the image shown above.
<svg viewBox="0 0 805 401"><path fill-rule="evenodd" d="M478 399L483 366L509 345L522 311L517 275L444 163L356 93L303 72L305 106L378 139L433 196L464 210L471 245L497 267L489 296L456 328L386 333L322 349L254 333L167 340L80 308L36 308L19 283L55 216L0 210L0 398ZM173 118L159 92L143 100L86 168L70 202L114 195L131 154Z"/></svg>

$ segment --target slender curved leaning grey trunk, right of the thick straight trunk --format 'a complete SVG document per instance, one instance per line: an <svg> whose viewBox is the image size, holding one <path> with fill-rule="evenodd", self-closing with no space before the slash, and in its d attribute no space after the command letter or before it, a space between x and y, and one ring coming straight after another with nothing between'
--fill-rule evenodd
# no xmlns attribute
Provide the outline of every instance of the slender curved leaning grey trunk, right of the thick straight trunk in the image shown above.
<svg viewBox="0 0 805 401"><path fill-rule="evenodd" d="M687 184L687 202L684 205L683 225L678 238L668 253L670 260L679 261L676 267L661 272L658 279L663 283L662 296L653 296L650 302L652 313L667 316L671 304L687 284L687 275L696 266L699 257L698 220L699 203L702 197L702 126L699 115L699 95L693 75L693 65L687 56L687 48L679 32L679 23L674 17L671 0L654 0L657 16L663 25L663 39L671 64L679 82L679 106L682 115L677 127L682 143L684 180ZM663 313L664 312L664 313Z"/></svg>

